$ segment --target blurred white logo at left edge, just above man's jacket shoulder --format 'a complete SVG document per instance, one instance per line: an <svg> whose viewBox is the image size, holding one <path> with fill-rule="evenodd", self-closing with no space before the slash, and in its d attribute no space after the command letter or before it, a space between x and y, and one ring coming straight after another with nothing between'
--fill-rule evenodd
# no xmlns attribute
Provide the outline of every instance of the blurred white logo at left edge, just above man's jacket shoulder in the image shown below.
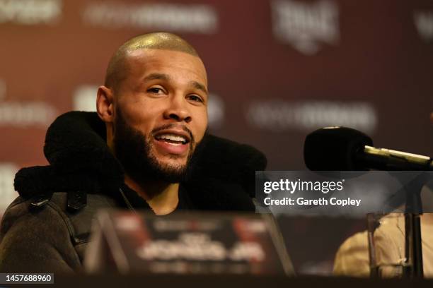
<svg viewBox="0 0 433 288"><path fill-rule="evenodd" d="M13 188L16 172L18 172L16 164L0 162L0 217L13 199L18 196Z"/></svg>

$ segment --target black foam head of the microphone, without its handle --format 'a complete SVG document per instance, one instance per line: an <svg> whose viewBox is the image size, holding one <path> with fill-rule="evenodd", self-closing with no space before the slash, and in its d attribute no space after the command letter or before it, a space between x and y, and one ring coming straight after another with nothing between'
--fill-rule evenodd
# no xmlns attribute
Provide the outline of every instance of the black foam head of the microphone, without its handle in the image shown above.
<svg viewBox="0 0 433 288"><path fill-rule="evenodd" d="M373 140L364 133L346 127L326 127L306 136L304 161L312 171L364 170L356 155Z"/></svg>

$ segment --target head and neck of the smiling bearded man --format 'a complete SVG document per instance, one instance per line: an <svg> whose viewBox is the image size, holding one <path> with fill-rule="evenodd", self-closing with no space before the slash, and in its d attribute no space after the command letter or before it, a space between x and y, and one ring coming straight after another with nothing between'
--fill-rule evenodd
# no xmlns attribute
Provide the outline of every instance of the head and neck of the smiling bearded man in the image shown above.
<svg viewBox="0 0 433 288"><path fill-rule="evenodd" d="M207 102L204 65L180 38L134 38L110 61L98 89L98 116L125 183L157 215L178 205L178 182L207 126Z"/></svg>

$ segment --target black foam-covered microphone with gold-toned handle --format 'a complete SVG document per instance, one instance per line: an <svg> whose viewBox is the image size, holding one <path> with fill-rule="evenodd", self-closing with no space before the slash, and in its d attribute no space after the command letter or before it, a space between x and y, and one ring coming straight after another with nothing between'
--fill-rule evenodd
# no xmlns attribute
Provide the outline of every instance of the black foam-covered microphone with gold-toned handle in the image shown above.
<svg viewBox="0 0 433 288"><path fill-rule="evenodd" d="M374 148L373 140L366 134L340 126L325 127L308 134L304 161L313 171L433 170L431 157Z"/></svg>

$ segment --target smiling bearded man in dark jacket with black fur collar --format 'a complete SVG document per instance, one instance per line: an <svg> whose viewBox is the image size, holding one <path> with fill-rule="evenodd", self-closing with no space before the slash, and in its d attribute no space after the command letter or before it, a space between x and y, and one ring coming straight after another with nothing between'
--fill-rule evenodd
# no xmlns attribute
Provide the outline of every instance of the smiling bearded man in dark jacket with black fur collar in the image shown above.
<svg viewBox="0 0 433 288"><path fill-rule="evenodd" d="M112 56L97 114L69 112L47 131L46 167L21 169L0 227L0 270L81 270L99 208L254 210L262 153L210 136L204 65L169 33L134 37Z"/></svg>

